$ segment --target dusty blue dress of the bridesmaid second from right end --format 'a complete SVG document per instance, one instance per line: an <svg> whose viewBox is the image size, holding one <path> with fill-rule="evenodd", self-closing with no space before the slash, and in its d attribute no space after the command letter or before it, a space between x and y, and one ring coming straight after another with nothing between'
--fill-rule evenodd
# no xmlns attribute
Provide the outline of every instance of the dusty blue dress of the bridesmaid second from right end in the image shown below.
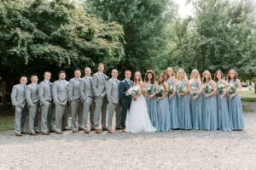
<svg viewBox="0 0 256 170"><path fill-rule="evenodd" d="M217 82L217 86L223 84L223 82ZM221 94L219 92L217 96L217 105L218 105L218 129L224 131L231 131L231 122L228 108L227 95L223 99L220 99Z"/></svg>

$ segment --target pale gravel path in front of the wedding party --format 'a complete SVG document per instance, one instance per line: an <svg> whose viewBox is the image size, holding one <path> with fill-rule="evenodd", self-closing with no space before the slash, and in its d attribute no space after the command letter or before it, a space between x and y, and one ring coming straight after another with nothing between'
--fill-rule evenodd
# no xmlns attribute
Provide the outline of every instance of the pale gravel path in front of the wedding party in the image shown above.
<svg viewBox="0 0 256 170"><path fill-rule="evenodd" d="M0 133L0 169L256 169L256 113L241 132Z"/></svg>

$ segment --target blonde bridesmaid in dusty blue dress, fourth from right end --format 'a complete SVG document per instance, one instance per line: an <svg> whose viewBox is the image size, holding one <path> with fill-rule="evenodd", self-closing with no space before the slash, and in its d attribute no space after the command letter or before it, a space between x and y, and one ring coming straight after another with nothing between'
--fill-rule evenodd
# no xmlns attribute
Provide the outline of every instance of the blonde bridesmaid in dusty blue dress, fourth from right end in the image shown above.
<svg viewBox="0 0 256 170"><path fill-rule="evenodd" d="M194 69L190 74L190 108L192 127L195 130L203 129L203 111L202 111L202 83L199 71Z"/></svg>

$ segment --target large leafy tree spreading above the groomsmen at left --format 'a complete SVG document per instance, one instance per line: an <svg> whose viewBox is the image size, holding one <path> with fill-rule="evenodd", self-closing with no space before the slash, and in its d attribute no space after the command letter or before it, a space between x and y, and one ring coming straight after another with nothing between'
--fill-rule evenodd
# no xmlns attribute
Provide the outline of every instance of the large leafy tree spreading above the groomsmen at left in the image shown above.
<svg viewBox="0 0 256 170"><path fill-rule="evenodd" d="M117 65L124 56L124 31L68 0L12 0L0 3L0 72L3 77L43 74L104 62Z"/></svg>

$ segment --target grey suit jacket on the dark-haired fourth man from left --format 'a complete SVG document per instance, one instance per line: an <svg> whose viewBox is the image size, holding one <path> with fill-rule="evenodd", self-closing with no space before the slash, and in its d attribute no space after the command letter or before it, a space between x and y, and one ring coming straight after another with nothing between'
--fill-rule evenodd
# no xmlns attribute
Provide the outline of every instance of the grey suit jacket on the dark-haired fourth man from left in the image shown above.
<svg viewBox="0 0 256 170"><path fill-rule="evenodd" d="M65 80L67 86L68 82ZM52 97L54 99L55 104L66 105L67 104L67 86L61 82L61 80L57 80L52 85Z"/></svg>

